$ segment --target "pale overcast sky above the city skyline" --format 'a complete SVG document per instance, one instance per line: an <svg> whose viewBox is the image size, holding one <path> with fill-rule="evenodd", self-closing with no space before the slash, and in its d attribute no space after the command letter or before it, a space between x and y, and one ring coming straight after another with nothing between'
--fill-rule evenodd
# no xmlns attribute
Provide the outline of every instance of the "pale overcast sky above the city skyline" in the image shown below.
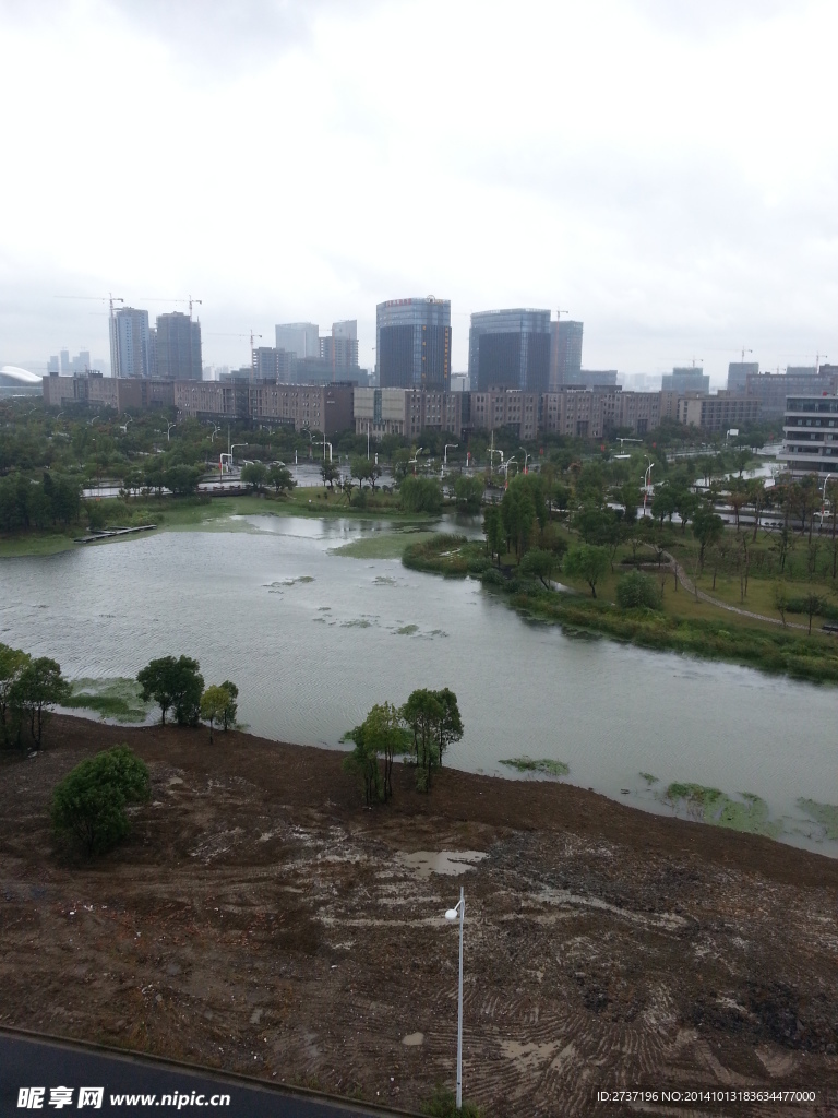
<svg viewBox="0 0 838 1118"><path fill-rule="evenodd" d="M835 0L0 0L0 363L561 307L583 366L838 361ZM39 371L36 369L36 371Z"/></svg>

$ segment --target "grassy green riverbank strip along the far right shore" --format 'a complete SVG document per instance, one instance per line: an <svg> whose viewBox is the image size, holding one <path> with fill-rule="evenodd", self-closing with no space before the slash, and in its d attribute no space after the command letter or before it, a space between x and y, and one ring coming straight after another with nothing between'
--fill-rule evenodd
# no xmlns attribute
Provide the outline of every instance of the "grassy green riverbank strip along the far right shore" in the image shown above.
<svg viewBox="0 0 838 1118"><path fill-rule="evenodd" d="M479 578L525 616L556 623L571 635L601 634L641 648L724 660L811 683L838 683L835 637L817 631L800 633L797 627L780 628L744 612L723 612L722 606L715 608L716 616L701 616L703 603L688 586L682 587L680 600L669 594L664 609L622 609L602 587L592 598L575 587L570 588L571 593L547 590L537 579L524 578L516 568L502 574L488 563L485 548L457 536L437 536L409 544L402 562L447 578ZM613 585L615 579L610 582ZM713 603L707 604L713 610Z"/></svg>

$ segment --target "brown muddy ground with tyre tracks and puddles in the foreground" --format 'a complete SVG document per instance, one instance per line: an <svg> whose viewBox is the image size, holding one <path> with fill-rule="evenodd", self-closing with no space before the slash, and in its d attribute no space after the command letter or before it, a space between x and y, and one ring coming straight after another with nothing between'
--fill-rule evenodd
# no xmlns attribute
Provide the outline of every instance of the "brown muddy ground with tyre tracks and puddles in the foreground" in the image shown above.
<svg viewBox="0 0 838 1118"><path fill-rule="evenodd" d="M50 792L121 741L152 803L86 863L50 837ZM454 1082L463 884L465 1095L486 1115L697 1086L820 1093L649 1111L836 1112L832 860L454 770L423 796L397 767L366 812L340 754L242 733L57 717L45 746L0 755L0 1024L418 1109ZM409 856L441 851L475 853L460 875Z"/></svg>

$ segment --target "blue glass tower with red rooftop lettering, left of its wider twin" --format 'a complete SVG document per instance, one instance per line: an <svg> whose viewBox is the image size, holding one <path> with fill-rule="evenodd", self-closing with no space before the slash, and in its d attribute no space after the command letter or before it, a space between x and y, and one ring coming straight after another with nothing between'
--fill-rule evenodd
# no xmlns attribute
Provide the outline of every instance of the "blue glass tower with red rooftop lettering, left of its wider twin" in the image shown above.
<svg viewBox="0 0 838 1118"><path fill-rule="evenodd" d="M381 388L448 390L451 304L447 299L391 299L375 307L375 356Z"/></svg>

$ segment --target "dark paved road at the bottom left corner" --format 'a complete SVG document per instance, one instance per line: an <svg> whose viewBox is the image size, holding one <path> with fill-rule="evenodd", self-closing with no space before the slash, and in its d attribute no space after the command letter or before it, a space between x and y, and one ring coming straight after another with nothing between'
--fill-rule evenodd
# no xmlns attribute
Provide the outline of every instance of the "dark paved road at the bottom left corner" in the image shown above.
<svg viewBox="0 0 838 1118"><path fill-rule="evenodd" d="M41 1088L40 1095L32 1088ZM65 1090L59 1093L57 1088ZM102 1088L79 1098L82 1088ZM145 1098L143 1098L143 1096ZM64 1106L55 1103L67 1099ZM229 1100L229 1101L227 1101ZM50 1101L53 1105L50 1105ZM22 1103L22 1105L21 1105ZM40 1103L38 1106L37 1103ZM35 1040L0 1030L0 1118L46 1115L218 1115L219 1118L358 1118L387 1111L295 1095L144 1057Z"/></svg>

